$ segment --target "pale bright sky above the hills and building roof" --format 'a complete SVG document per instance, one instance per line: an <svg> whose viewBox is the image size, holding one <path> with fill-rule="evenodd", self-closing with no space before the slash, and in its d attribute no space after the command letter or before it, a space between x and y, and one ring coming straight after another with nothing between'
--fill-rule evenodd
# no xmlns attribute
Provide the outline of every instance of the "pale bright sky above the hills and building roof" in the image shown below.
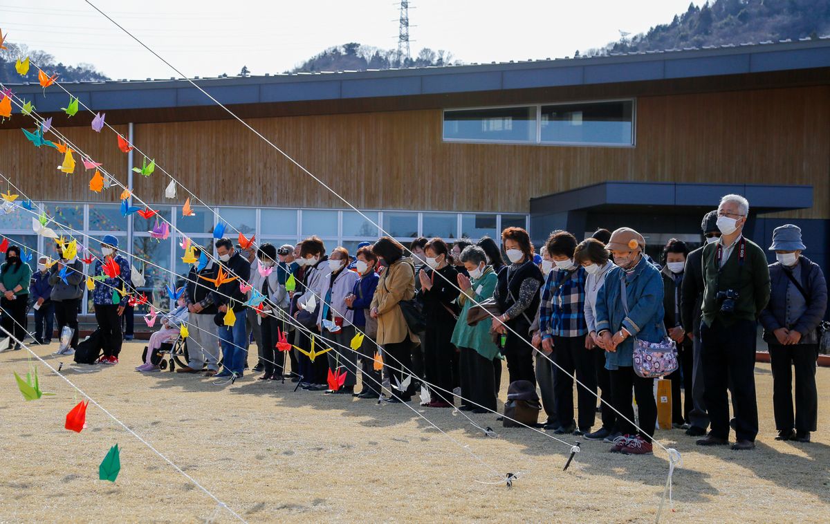
<svg viewBox="0 0 830 524"><path fill-rule="evenodd" d="M279 73L326 47L398 46L393 0L90 0L186 75ZM466 63L573 56L685 12L690 0L413 0L413 56L444 49ZM701 5L703 2L695 0ZM175 73L84 0L0 0L8 41L65 64L93 64L121 79Z"/></svg>

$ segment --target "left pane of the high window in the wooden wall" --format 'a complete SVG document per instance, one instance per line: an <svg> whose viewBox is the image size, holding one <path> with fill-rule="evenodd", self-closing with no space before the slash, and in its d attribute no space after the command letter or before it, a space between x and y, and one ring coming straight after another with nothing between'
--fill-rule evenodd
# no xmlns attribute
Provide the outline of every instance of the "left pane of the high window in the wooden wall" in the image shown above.
<svg viewBox="0 0 830 524"><path fill-rule="evenodd" d="M444 140L535 142L536 106L445 111Z"/></svg>

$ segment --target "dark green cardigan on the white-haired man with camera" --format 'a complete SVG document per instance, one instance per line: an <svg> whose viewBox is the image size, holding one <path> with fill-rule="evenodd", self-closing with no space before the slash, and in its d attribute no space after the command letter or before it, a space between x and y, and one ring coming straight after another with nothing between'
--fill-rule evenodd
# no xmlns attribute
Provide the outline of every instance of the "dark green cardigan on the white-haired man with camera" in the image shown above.
<svg viewBox="0 0 830 524"><path fill-rule="evenodd" d="M711 326L715 318L726 326L736 320L755 321L769 301L769 266L764 250L751 240L745 240L744 263L740 264L740 240L738 242L720 271L717 261L719 243L713 242L703 248L703 322L707 326ZM735 313L730 315L720 313L717 299L718 291L726 289L739 293Z"/></svg>

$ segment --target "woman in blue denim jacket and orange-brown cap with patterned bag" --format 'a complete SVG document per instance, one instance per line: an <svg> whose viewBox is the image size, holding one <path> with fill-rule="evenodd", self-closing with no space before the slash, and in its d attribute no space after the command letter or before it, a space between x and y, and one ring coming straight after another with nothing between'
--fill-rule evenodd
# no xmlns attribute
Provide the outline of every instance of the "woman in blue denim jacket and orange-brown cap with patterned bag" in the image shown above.
<svg viewBox="0 0 830 524"><path fill-rule="evenodd" d="M597 331L605 349L605 367L611 376L613 405L623 414L618 421L623 436L614 441L611 451L650 454L657 422L654 381L634 372L634 337L646 342L661 342L665 337L663 281L660 271L643 256L646 240L637 231L625 227L614 231L606 247L618 267L608 271L605 285L597 295ZM623 281L628 313L622 298ZM634 420L632 386L637 398L639 431L629 422Z"/></svg>

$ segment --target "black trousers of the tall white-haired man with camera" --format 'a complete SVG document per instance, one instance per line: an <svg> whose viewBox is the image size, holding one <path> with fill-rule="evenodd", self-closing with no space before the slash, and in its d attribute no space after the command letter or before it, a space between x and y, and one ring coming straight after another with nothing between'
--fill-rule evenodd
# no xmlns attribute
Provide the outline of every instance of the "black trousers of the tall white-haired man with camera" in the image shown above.
<svg viewBox="0 0 830 524"><path fill-rule="evenodd" d="M735 407L735 438L754 441L758 435L758 404L755 400L755 323L737 320L726 326L715 318L711 327L701 325L701 359L706 391L703 400L709 410L710 434L728 439L729 399Z"/></svg>

